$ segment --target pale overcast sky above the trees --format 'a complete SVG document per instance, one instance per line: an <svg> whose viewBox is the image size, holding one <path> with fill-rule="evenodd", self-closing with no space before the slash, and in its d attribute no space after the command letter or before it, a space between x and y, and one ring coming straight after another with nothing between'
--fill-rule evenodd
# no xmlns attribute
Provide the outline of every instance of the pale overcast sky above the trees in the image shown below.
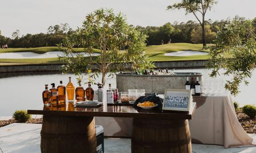
<svg viewBox="0 0 256 153"><path fill-rule="evenodd" d="M181 0L1 0L0 30L11 37L20 30L21 35L47 32L50 25L68 23L80 27L86 14L97 8L114 8L123 12L129 24L161 26L167 22L195 20L185 16L182 10L166 10L167 6ZM206 20L222 20L236 15L253 19L256 17L256 0L218 0Z"/></svg>

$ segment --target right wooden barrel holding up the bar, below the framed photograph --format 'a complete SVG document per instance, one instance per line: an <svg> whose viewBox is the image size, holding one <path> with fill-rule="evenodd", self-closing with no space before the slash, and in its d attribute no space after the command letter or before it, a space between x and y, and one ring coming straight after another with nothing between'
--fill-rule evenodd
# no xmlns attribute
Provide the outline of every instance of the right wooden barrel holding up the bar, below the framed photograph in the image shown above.
<svg viewBox="0 0 256 153"><path fill-rule="evenodd" d="M132 153L191 153L188 120L134 118Z"/></svg>

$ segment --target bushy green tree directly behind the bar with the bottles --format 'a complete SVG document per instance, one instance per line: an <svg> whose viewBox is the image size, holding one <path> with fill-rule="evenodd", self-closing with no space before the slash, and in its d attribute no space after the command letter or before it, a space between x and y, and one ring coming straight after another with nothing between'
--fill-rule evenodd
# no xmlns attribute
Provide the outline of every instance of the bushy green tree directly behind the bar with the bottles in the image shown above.
<svg viewBox="0 0 256 153"><path fill-rule="evenodd" d="M82 27L59 44L65 54L60 60L67 63L62 67L64 73L75 73L79 78L85 73L95 78L102 72L105 85L107 73L113 74L128 66L133 70L153 67L144 52L147 36L128 25L121 13L115 15L113 9L101 8L85 18ZM89 57L83 54L74 57L74 47L85 48ZM94 56L94 52L100 55ZM93 65L97 65L98 70L91 73Z"/></svg>

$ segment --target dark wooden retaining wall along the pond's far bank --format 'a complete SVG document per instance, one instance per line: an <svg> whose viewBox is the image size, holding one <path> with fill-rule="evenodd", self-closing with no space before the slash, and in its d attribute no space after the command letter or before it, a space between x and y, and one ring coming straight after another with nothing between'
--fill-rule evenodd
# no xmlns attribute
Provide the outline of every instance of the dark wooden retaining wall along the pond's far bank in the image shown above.
<svg viewBox="0 0 256 153"><path fill-rule="evenodd" d="M200 68L205 67L207 60L166 61L154 62L157 68ZM0 72L31 72L31 71L60 71L63 64L24 64L2 65ZM96 65L95 65L96 66Z"/></svg>

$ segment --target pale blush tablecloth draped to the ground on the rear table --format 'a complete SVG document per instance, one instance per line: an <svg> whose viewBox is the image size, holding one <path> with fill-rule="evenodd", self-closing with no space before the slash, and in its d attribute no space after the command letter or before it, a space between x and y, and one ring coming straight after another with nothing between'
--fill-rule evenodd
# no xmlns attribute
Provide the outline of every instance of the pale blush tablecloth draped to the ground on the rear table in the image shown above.
<svg viewBox="0 0 256 153"><path fill-rule="evenodd" d="M193 97L197 108L189 122L192 142L244 147L256 145L236 118L230 95ZM130 137L132 118L95 117L96 125L104 127L105 136Z"/></svg>

